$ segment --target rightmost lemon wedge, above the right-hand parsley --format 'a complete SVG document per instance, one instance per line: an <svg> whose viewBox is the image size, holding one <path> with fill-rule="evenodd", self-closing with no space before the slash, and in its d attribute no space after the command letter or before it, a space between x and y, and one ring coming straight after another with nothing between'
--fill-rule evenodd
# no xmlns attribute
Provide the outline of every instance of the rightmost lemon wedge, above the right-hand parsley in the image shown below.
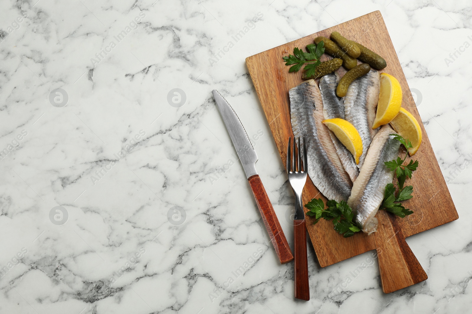
<svg viewBox="0 0 472 314"><path fill-rule="evenodd" d="M396 133L412 142L413 147L408 148L408 153L413 156L421 144L421 128L418 121L411 113L400 108L400 112L390 121L390 124Z"/></svg>

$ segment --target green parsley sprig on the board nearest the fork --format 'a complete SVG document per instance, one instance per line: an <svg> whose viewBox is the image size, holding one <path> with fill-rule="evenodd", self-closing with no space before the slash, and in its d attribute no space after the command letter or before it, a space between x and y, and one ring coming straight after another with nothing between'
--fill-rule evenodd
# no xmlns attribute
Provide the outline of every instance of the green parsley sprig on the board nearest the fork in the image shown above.
<svg viewBox="0 0 472 314"><path fill-rule="evenodd" d="M349 205L347 205L346 201L337 202L330 200L326 203L326 206L328 207L327 209L325 209L321 199L315 198L305 205L307 209L310 209L306 215L315 218L313 224L316 224L321 218L333 220L334 230L342 234L345 238L353 236L355 232L361 231L353 222L354 212Z"/></svg>

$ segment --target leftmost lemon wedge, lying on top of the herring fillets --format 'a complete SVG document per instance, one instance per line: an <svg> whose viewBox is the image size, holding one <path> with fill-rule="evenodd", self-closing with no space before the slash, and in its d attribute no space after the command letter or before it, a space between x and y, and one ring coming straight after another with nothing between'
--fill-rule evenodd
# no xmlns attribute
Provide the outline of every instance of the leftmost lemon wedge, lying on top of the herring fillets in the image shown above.
<svg viewBox="0 0 472 314"><path fill-rule="evenodd" d="M354 156L355 163L359 164L359 157L362 155L362 138L354 125L350 122L340 119L328 119L323 123L330 129L337 139L351 152Z"/></svg>

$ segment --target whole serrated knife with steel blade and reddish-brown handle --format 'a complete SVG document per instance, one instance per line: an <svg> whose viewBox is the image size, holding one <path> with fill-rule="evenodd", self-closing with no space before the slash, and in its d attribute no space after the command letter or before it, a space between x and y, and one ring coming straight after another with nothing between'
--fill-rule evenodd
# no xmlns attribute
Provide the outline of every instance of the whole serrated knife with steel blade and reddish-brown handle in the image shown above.
<svg viewBox="0 0 472 314"><path fill-rule="evenodd" d="M264 189L264 185L262 185L261 178L257 174L255 167L257 161L256 151L233 107L229 105L228 101L216 89L213 89L211 93L215 98L216 105L218 105L219 113L223 118L223 122L225 122L229 137L231 137L239 160L243 165L244 172L246 173L249 185L251 185L251 190L256 199L257 207L261 212L262 220L269 233L270 240L274 245L278 259L282 264L288 263L292 261L294 257L288 246L282 227L275 215L274 208Z"/></svg>

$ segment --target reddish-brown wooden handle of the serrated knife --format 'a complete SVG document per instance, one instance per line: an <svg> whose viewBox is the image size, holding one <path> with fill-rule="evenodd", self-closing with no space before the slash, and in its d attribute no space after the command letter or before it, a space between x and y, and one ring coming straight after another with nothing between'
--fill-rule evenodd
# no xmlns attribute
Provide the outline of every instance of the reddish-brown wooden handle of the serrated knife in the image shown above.
<svg viewBox="0 0 472 314"><path fill-rule="evenodd" d="M280 263L285 264L294 259L292 251L288 246L285 234L282 231L282 227L278 222L277 216L275 215L274 208L270 203L269 196L262 185L261 178L259 175L253 175L249 177L249 184L253 190L254 198L257 202L257 207L261 212L262 220L266 226L269 237L274 245L275 252L277 253Z"/></svg>

